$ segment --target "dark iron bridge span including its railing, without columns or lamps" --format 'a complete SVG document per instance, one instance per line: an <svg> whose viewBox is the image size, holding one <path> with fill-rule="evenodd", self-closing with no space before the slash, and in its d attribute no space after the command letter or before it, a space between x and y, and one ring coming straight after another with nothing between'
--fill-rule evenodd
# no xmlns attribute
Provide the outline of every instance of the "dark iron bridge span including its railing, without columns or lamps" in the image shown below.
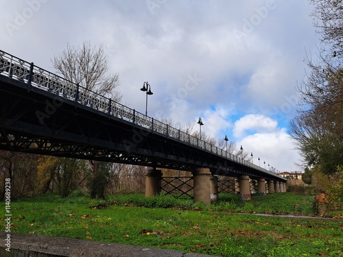
<svg viewBox="0 0 343 257"><path fill-rule="evenodd" d="M0 149L213 175L284 178L0 51Z"/></svg>

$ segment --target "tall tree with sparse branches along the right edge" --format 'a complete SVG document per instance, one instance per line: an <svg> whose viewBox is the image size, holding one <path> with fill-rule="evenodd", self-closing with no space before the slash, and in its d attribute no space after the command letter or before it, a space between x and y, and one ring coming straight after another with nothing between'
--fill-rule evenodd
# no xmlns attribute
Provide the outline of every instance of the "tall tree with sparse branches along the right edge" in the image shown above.
<svg viewBox="0 0 343 257"><path fill-rule="evenodd" d="M333 174L343 164L343 7L341 1L309 2L316 5L322 47L316 60L306 59L310 73L298 88L303 108L290 127L307 165Z"/></svg>

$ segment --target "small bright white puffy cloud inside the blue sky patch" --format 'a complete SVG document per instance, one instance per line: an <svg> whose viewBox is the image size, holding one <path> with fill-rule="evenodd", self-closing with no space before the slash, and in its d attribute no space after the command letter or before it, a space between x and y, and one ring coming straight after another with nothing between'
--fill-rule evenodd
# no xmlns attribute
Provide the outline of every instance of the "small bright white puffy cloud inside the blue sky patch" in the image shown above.
<svg viewBox="0 0 343 257"><path fill-rule="evenodd" d="M272 132L276 130L277 122L261 114L248 114L235 122L233 136L239 138L246 132Z"/></svg>

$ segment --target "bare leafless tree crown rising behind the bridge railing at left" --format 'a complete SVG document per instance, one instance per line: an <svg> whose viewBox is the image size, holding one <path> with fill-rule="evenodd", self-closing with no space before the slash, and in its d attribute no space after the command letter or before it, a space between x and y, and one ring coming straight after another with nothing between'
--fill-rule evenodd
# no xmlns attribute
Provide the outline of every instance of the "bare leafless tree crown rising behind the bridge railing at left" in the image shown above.
<svg viewBox="0 0 343 257"><path fill-rule="evenodd" d="M95 47L91 42L84 42L81 47L67 45L67 49L51 59L54 68L69 81L92 90L99 95L121 101L122 95L116 90L119 75L108 73L108 58L104 47Z"/></svg>

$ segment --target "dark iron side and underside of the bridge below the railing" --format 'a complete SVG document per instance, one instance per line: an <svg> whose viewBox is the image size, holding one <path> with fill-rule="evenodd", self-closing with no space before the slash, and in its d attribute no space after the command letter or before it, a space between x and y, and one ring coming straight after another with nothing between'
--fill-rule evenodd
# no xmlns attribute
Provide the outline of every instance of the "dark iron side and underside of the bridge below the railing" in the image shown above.
<svg viewBox="0 0 343 257"><path fill-rule="evenodd" d="M274 174L246 167L71 99L0 75L0 149L216 175Z"/></svg>

